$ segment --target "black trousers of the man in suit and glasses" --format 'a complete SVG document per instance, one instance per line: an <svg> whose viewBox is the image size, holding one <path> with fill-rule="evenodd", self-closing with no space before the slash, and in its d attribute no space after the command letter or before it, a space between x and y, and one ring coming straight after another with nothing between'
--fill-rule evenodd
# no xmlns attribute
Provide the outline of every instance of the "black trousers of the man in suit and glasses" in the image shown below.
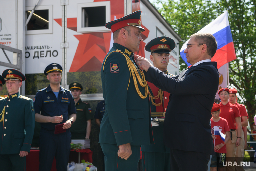
<svg viewBox="0 0 256 171"><path fill-rule="evenodd" d="M209 159L205 153L170 149L171 171L207 171Z"/></svg>

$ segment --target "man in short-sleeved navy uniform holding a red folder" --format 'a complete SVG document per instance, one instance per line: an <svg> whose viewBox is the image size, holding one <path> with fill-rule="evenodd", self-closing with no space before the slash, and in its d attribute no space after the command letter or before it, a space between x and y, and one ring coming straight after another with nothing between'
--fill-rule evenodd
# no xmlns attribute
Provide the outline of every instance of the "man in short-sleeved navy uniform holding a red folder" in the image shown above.
<svg viewBox="0 0 256 171"><path fill-rule="evenodd" d="M41 123L39 171L50 171L54 157L57 171L67 171L71 142L69 128L76 119L76 110L71 92L60 87L61 73L59 64L48 65L44 74L50 85L39 90L34 97L35 120ZM63 126L56 126L58 124Z"/></svg>

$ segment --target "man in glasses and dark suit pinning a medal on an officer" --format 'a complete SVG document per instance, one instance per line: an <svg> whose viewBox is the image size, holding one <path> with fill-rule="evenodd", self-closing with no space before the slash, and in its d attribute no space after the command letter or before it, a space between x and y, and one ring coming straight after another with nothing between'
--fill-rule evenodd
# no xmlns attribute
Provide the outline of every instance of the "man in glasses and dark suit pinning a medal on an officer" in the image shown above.
<svg viewBox="0 0 256 171"><path fill-rule="evenodd" d="M136 56L146 80L170 93L164 144L170 148L172 171L206 171L210 155L214 155L209 121L219 80L217 62L211 62L216 50L213 35L193 34L184 51L193 66L174 77Z"/></svg>

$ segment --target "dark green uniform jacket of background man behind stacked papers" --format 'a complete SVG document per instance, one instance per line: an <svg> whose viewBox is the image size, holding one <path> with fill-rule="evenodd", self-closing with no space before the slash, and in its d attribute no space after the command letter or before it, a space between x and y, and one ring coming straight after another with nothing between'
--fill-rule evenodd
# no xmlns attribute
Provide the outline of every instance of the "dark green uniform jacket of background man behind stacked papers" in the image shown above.
<svg viewBox="0 0 256 171"><path fill-rule="evenodd" d="M81 99L75 105L76 108L76 120L70 127L72 139L85 139L86 136L86 121L93 119L92 110L90 104L83 102ZM88 110L89 109L89 110Z"/></svg>

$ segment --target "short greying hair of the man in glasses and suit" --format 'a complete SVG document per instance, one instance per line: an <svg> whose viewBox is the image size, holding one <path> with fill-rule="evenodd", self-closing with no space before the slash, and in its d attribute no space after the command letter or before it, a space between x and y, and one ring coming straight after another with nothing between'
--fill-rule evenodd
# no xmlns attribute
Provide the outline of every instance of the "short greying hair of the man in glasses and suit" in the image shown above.
<svg viewBox="0 0 256 171"><path fill-rule="evenodd" d="M195 41L197 43L203 43L207 45L207 53L208 55L210 55L211 57L214 56L216 50L217 50L217 41L216 39L213 37L213 35L211 35L210 33L195 33L193 35L190 36L190 38L195 37ZM198 45L199 46L199 45Z"/></svg>

